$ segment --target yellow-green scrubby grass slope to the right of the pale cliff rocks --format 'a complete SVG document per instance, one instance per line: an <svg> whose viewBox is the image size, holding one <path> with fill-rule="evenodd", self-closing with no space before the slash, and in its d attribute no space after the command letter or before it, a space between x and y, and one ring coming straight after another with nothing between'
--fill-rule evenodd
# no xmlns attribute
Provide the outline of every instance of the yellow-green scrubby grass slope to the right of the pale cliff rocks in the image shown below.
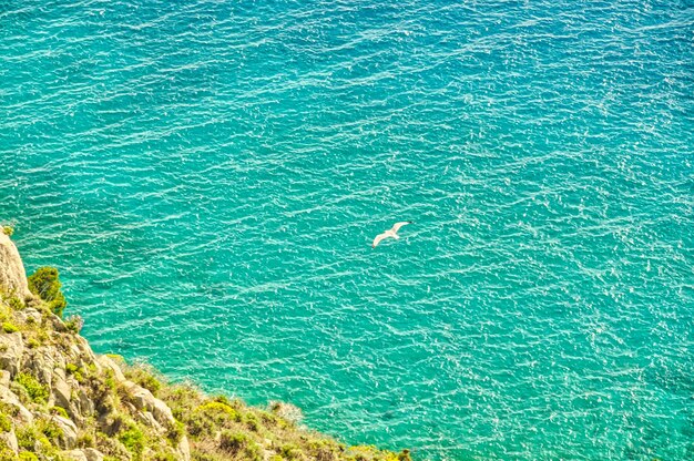
<svg viewBox="0 0 694 461"><path fill-rule="evenodd" d="M188 437L193 461L410 461L370 445L347 447L300 424L300 411L274 402L266 409L238 399L207 396L191 383L169 383L153 368L118 360L125 377L149 389L172 409Z"/></svg>

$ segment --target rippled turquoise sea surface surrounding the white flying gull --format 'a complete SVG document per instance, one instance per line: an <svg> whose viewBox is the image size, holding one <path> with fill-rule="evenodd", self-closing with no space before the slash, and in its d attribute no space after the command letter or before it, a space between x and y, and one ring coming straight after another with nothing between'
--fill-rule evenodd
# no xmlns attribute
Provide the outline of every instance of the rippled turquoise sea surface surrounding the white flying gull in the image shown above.
<svg viewBox="0 0 694 461"><path fill-rule="evenodd" d="M0 0L94 348L418 460L694 459L693 146L691 0Z"/></svg>

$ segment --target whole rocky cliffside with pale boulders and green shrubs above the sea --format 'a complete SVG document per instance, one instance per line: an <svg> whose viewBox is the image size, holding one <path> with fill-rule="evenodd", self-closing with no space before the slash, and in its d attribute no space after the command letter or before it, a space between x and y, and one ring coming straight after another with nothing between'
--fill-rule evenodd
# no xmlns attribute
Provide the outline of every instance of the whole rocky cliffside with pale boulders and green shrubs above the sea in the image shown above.
<svg viewBox="0 0 694 461"><path fill-rule="evenodd" d="M28 280L0 232L0 460L409 460L309 431L290 404L247 407L94 354L43 269Z"/></svg>

